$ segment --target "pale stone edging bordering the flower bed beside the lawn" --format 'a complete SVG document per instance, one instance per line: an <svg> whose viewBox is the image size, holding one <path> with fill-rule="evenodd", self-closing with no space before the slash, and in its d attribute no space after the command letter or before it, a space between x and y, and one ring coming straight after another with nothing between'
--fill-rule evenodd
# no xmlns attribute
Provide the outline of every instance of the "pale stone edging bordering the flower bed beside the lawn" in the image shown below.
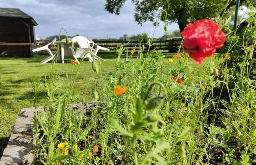
<svg viewBox="0 0 256 165"><path fill-rule="evenodd" d="M102 104L100 102L99 104ZM88 115L92 112L91 105L93 107L97 105L97 101L85 102L83 113ZM71 105L68 105L71 106ZM38 112L45 110L47 107L38 106ZM83 103L76 103L72 107L77 112L81 112L83 109ZM10 134L10 139L6 148L4 149L3 155L0 159L0 165L32 165L34 161L34 154L30 147L31 142L34 143L32 124L34 120L34 114L36 109L23 108L18 115L13 130Z"/></svg>

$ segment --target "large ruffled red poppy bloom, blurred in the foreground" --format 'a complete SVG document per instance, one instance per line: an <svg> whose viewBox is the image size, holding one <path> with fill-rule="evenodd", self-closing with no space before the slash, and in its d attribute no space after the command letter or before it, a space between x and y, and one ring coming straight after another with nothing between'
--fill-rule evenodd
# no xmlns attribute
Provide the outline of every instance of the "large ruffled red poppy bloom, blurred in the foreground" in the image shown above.
<svg viewBox="0 0 256 165"><path fill-rule="evenodd" d="M201 64L205 57L210 57L216 49L222 47L226 36L214 21L202 19L189 23L181 32L184 38L182 48L184 52Z"/></svg>

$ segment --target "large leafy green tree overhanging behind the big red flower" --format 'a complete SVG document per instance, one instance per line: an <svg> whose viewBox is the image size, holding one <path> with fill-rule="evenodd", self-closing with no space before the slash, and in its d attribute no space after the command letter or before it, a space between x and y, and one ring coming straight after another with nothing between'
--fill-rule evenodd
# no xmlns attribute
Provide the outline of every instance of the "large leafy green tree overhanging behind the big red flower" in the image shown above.
<svg viewBox="0 0 256 165"><path fill-rule="evenodd" d="M110 13L120 14L120 9L127 0L106 0L105 10ZM167 12L167 22L178 23L180 31L183 31L189 22L201 20L203 18L216 18L218 15L228 10L236 4L236 0L131 0L135 5L135 21L142 25L146 21L156 25L159 13L163 10ZM256 5L255 0L240 0L240 6ZM226 7L227 6L227 7ZM165 15L161 16L161 21L165 20Z"/></svg>

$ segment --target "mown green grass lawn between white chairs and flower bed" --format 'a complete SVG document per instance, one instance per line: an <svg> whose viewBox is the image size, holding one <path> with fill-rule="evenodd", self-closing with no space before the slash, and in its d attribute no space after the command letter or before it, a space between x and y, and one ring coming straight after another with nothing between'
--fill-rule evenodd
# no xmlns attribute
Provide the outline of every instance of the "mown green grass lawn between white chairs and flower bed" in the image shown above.
<svg viewBox="0 0 256 165"><path fill-rule="evenodd" d="M105 77L107 73L115 72L115 61L117 55L113 54L98 54L100 57L105 59L106 61L101 61L100 70L103 79L101 78L100 73L95 74L91 69L91 63L88 59L82 63L77 80L75 83L75 92L83 93L87 86L88 80L90 78L94 78L96 80L96 84L105 83ZM163 62L162 65L168 65L168 58L173 58L173 54L166 53L165 57L161 59ZM34 94L31 92L33 80L37 80L41 77L41 79L49 80L49 75L52 71L52 63L48 62L45 64L41 64L40 61L47 58L48 55L36 55L33 57L0 57L0 70L1 70L1 81L0 81L0 157L2 156L3 149L6 147L8 139L10 137L10 132L13 128L14 122L17 118L17 115L20 113L22 108L32 107L32 98ZM124 57L124 56L123 56ZM209 60L210 58L206 58ZM57 70L61 70L63 74L61 75L59 81L64 82L62 89L65 92L70 88L70 81L66 78L66 72L68 76L71 77L72 67L70 61L72 58L65 59L65 63L57 63ZM134 58L133 60L136 60ZM213 58L214 60L214 58ZM190 59L192 61L192 59ZM195 65L195 68L202 67L202 65ZM78 64L74 65L73 73L75 74L78 68ZM74 75L73 75L74 76ZM161 76L162 78L162 76ZM161 79L159 78L159 79ZM164 78L164 77L163 77ZM47 81L46 80L46 81ZM93 85L93 81L90 81L91 86ZM90 93L91 86L89 84L89 88L87 90L87 94ZM42 86L43 89L43 86ZM100 95L100 89L99 95ZM91 96L87 98L90 100ZM82 101L82 98L80 99ZM46 92L42 90L38 93L38 105L46 106Z"/></svg>

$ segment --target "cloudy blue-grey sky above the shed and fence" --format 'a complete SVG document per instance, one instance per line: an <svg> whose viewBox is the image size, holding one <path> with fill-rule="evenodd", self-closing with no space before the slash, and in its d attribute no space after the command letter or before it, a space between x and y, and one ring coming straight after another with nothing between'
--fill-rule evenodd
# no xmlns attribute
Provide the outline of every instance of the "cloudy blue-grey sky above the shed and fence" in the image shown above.
<svg viewBox="0 0 256 165"><path fill-rule="evenodd" d="M37 23L35 33L42 39L59 35L65 28L69 36L79 34L90 39L120 38L137 33L148 33L153 36L155 27L152 22L142 26L134 21L135 6L126 1L120 9L120 15L104 10L105 0L4 0L0 7L19 8ZM239 15L244 12L240 11ZM178 24L168 25L168 31L179 29ZM66 35L64 30L61 35ZM155 38L164 35L164 22L156 28Z"/></svg>

